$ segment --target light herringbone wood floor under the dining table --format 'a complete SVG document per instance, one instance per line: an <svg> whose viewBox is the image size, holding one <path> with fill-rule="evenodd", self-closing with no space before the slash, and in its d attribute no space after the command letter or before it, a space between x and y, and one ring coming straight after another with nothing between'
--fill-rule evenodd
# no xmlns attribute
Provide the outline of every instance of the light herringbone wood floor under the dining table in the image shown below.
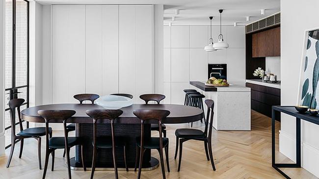
<svg viewBox="0 0 319 179"><path fill-rule="evenodd" d="M190 127L188 124L167 125L170 139L169 159L171 172L166 172L167 179L282 179L283 177L271 167L271 121L270 118L252 112L251 131L214 131L213 132L213 157L216 171L212 170L209 161L206 160L204 145L200 141L188 141L183 146L181 171L177 172L177 160L174 160L175 135L177 128ZM200 122L194 124L194 128L203 129ZM280 123L276 123L276 130ZM53 134L56 135L57 133ZM58 133L62 134L62 133ZM155 135L156 133L154 133ZM277 133L278 146L278 133ZM42 142L42 163L44 162L45 141ZM18 158L19 143L16 146L14 156L9 168L5 168L9 150L5 157L0 157L0 179L40 179L43 170L38 169L36 141L28 139L25 142L22 159ZM74 150L72 150L74 151ZM277 147L278 151L278 147ZM67 169L65 159L62 158L63 150L55 153L55 170L51 169L51 158L47 172L47 179L66 179ZM152 152L154 157L159 157L157 151ZM71 156L73 156L71 154ZM277 161L287 162L287 158L277 152ZM166 167L166 165L165 165ZM165 168L166 170L166 168ZM285 170L293 179L314 179L304 169ZM135 172L119 172L121 179L135 179ZM72 171L74 179L89 179L90 171ZM112 179L113 171L96 171L95 179ZM143 179L161 179L160 167L142 172Z"/></svg>

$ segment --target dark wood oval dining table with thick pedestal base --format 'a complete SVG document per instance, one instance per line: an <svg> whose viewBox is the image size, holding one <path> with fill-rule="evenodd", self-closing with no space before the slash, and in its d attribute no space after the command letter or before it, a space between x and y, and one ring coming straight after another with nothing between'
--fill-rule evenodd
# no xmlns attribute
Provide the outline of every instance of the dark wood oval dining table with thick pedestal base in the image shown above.
<svg viewBox="0 0 319 179"><path fill-rule="evenodd" d="M68 119L68 123L76 123L76 136L82 137L84 141L84 165L87 169L91 168L93 157L93 120L85 111L93 109L105 109L96 104L50 104L30 107L21 112L23 120L35 123L44 123L44 119L38 114L39 110L74 110L76 113ZM134 110L154 109L168 110L170 114L162 121L164 124L180 124L201 120L203 111L199 108L173 105L173 104L133 104L129 107L121 108L123 114L115 120L115 136L125 136L128 138L129 145L127 149L127 162L130 170L135 165L135 141L140 136L141 121L133 114ZM51 120L50 123L60 123L58 120ZM155 121L154 121L155 122ZM100 120L97 127L97 135L110 135L109 120ZM150 122L152 123L152 121ZM144 137L151 137L151 125L146 124L144 129ZM62 124L61 124L62 125ZM158 136L158 135L157 135ZM123 149L116 149L116 158L119 170L125 170L123 158ZM75 157L71 158L71 169L82 170L80 163L80 147L76 147ZM101 149L98 153L96 161L96 170L114 170L112 162L112 152L109 149ZM142 164L142 170L152 170L159 166L159 160L151 157L150 150L145 151Z"/></svg>

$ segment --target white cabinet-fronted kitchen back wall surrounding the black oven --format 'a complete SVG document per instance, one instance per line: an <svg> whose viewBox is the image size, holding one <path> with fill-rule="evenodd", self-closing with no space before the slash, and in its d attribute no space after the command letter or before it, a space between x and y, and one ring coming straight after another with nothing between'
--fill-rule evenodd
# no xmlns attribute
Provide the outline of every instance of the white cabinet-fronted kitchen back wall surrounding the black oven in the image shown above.
<svg viewBox="0 0 319 179"><path fill-rule="evenodd" d="M184 104L189 81L206 81L208 64L227 64L229 82L245 81L245 28L222 26L226 50L206 52L210 27L207 25L164 26L164 103ZM219 26L213 26L214 42Z"/></svg>

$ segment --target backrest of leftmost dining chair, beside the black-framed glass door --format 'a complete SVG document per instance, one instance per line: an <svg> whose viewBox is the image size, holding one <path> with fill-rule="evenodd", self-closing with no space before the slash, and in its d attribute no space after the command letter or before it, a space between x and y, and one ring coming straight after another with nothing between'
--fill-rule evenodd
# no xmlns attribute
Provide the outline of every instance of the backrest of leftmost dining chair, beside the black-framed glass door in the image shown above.
<svg viewBox="0 0 319 179"><path fill-rule="evenodd" d="M19 119L19 127L20 131L23 130L22 126L22 120L21 120L21 112L20 112L20 107L21 105L25 102L24 99L18 98L18 99L11 99L9 101L9 108L10 108L10 122L11 122L11 135L16 135L16 119L13 117L13 111L14 109L17 108L17 113L18 113L18 119ZM13 132L12 132L13 131Z"/></svg>

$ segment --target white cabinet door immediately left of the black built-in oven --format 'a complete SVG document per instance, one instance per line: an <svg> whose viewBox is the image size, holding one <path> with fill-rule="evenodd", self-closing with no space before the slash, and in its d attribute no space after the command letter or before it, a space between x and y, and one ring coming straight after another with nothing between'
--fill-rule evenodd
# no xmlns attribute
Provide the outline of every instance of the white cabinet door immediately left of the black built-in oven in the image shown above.
<svg viewBox="0 0 319 179"><path fill-rule="evenodd" d="M208 53L202 48L189 49L189 80L206 81L208 77Z"/></svg>

